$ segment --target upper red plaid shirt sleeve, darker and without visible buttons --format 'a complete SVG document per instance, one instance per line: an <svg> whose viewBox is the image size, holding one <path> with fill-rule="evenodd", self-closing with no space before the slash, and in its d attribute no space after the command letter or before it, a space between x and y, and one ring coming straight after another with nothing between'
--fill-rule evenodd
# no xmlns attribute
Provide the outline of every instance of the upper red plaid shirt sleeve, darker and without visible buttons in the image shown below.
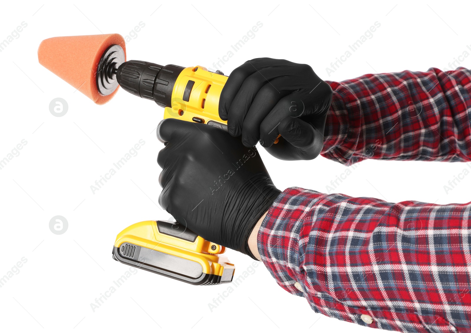
<svg viewBox="0 0 471 333"><path fill-rule="evenodd" d="M322 155L351 165L382 160L471 161L471 71L367 74L328 82Z"/></svg>

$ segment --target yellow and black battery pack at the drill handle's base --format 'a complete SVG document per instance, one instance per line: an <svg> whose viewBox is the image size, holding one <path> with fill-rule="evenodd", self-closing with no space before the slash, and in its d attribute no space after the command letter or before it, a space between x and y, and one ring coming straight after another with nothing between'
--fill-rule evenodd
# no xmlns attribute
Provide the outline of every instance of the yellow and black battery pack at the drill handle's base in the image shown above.
<svg viewBox="0 0 471 333"><path fill-rule="evenodd" d="M143 221L116 236L113 259L195 285L232 281L235 266L209 242L178 222Z"/></svg>

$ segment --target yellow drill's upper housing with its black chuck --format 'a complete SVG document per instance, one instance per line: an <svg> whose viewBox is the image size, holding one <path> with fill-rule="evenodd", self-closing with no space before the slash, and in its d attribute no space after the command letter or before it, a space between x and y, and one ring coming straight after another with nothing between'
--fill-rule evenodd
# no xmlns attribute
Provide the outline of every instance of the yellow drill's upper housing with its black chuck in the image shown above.
<svg viewBox="0 0 471 333"><path fill-rule="evenodd" d="M163 118L227 130L227 121L219 118L219 97L227 81L221 72L213 73L203 66L185 68L130 60L116 69L116 79L123 89L163 106Z"/></svg>

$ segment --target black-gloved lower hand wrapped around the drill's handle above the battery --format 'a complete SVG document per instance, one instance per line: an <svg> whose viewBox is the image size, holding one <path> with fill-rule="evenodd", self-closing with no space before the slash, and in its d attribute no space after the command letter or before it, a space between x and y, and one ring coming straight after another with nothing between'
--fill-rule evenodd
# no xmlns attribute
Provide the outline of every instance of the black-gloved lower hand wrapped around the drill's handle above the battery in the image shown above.
<svg viewBox="0 0 471 333"><path fill-rule="evenodd" d="M159 203L206 240L250 255L247 240L280 191L257 152L216 127L165 119Z"/></svg>

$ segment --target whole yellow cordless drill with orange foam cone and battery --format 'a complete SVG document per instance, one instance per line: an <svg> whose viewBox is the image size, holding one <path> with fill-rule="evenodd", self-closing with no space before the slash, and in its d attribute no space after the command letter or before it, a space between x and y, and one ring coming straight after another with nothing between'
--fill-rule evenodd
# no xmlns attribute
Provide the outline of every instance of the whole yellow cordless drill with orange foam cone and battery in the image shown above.
<svg viewBox="0 0 471 333"><path fill-rule="evenodd" d="M227 76L203 66L157 65L126 61L119 34L53 37L38 49L41 65L97 104L105 104L119 86L164 107L163 118L205 123L227 130L219 118L219 96ZM229 283L235 266L209 242L178 222L135 223L116 237L113 259L195 285Z"/></svg>

